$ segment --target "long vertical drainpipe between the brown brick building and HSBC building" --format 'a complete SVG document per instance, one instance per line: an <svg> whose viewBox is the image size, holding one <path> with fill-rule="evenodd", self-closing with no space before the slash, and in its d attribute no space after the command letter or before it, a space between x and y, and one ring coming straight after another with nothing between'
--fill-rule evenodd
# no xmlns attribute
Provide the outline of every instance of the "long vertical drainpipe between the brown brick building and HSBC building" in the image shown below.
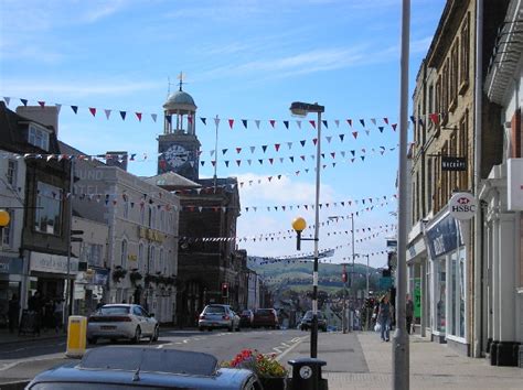
<svg viewBox="0 0 523 390"><path fill-rule="evenodd" d="M481 181L481 133L483 98L483 0L476 0L476 83L474 83L474 195L478 202L474 215L473 263L473 357L481 357L481 207L479 191Z"/></svg>

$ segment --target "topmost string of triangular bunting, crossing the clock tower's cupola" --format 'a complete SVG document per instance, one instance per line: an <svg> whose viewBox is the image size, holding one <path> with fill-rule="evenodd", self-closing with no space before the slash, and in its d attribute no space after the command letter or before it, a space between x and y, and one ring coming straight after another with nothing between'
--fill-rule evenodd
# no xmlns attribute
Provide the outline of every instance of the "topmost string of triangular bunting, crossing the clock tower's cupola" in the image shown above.
<svg viewBox="0 0 523 390"><path fill-rule="evenodd" d="M63 107L70 107L71 110L75 115L78 115L78 110L85 110L86 112L88 111L93 118L95 118L96 115L99 115L99 116L104 115L107 120L114 118L114 113L117 117L119 116L121 121L125 121L126 119L129 119L129 116L130 116L135 120L138 120L138 122L142 122L142 120L146 117L150 117L152 122L157 122L158 117L159 117L158 113L143 112L141 110L140 111L129 111L129 110L113 109L113 108L102 108L100 109L100 108L92 107L92 106L84 107L84 106L78 106L78 105L64 105L64 104L60 104L60 102L47 102L45 100L38 100L38 99L30 100L28 98L20 98L20 97L13 97L13 96L4 96L3 97L3 100L6 101L6 105L8 107L11 104L11 100L15 100L15 99L20 100L20 102L25 107L28 107L30 101L33 101L34 104L38 104L42 108L50 107L50 106L51 107L56 107L58 112L62 110ZM171 116L168 116L166 118L167 118L168 121L172 121ZM207 126L207 119L209 119L207 117L198 117L198 119L205 127ZM194 118L192 116L188 117L189 122L192 122L193 120L194 120ZM238 122L242 123L244 129L249 128L249 122L254 123L254 126L258 130L260 129L262 123L267 123L270 129L276 129L278 127L278 123L281 123L287 130L290 128L290 124L292 122L296 123L296 127L298 129L301 129L302 122L309 123L312 129L316 129L316 127L317 127L317 121L316 120L302 121L302 120L299 120L299 119L293 120L293 121L289 121L289 120L276 120L276 119L260 120L260 119L245 119L245 118L243 118L243 119L235 119L235 118L224 119L224 118L216 117L216 118L212 118L212 120L214 121L215 126L218 126L221 120L226 120L227 123L228 123L228 127L231 128L231 130L234 129L235 123L238 123ZM342 124L342 123L346 123L346 126L349 126L350 128L353 128L353 126L356 126L357 123L361 124L363 128L367 128L369 126L372 124L372 126L377 127L378 129L381 129L381 131L383 131L383 128L385 126L389 126L393 130L396 130L396 127L397 127L397 123L391 123L388 117L370 118L370 119L363 118L363 119L357 119L357 120L356 119L351 119L351 118L343 119L343 120L334 119L334 120L331 120L331 121L322 120L322 124L324 126L325 129L329 129L329 122L333 123L333 126L335 126L337 128L339 128L340 124Z"/></svg>

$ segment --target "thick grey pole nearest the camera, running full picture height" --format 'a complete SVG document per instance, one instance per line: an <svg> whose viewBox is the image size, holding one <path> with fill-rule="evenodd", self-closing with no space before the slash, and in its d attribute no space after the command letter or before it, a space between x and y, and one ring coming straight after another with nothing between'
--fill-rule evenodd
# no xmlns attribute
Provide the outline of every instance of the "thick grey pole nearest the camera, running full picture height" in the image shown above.
<svg viewBox="0 0 523 390"><path fill-rule="evenodd" d="M397 218L397 268L396 268L396 331L393 336L393 389L408 390L409 345L406 332L406 288L407 288L407 132L408 132L408 56L410 35L410 0L403 0L402 9L402 57L399 88L399 204Z"/></svg>

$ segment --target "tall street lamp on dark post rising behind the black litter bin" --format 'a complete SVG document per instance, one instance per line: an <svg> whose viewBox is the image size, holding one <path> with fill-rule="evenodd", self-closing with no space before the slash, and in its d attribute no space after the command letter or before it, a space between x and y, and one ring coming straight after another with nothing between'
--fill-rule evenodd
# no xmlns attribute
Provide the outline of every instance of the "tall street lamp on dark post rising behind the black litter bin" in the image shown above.
<svg viewBox="0 0 523 390"><path fill-rule="evenodd" d="M312 328L310 336L310 357L318 357L318 241L320 235L320 167L321 167L321 113L323 106L301 101L290 105L293 116L306 117L308 113L318 113L318 142L316 149L316 204L314 204L314 269L312 272ZM298 238L299 241L300 238Z"/></svg>

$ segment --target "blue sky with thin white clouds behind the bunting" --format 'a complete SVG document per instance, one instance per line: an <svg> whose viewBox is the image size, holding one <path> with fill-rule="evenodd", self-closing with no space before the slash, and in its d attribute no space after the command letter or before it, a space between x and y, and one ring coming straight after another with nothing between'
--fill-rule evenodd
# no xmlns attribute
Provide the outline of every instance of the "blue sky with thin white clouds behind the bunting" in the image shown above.
<svg viewBox="0 0 523 390"><path fill-rule="evenodd" d="M409 96L444 7L412 1ZM1 0L0 98L12 110L20 99L62 105L60 140L136 153L129 172L152 176L162 105L182 72L198 106L200 176L217 159L220 177L237 177L238 248L262 257L312 253L312 241L297 252L291 223L303 217L313 235L318 118L289 106L318 102L319 249L349 261L352 214L354 252L383 267L397 210L401 11L401 0Z"/></svg>

